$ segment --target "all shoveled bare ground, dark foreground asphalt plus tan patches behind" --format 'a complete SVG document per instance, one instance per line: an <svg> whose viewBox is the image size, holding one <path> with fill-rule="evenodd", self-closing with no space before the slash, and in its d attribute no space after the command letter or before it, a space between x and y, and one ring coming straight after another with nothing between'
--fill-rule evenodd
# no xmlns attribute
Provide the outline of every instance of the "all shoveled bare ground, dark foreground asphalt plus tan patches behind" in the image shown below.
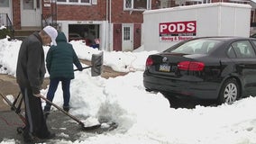
<svg viewBox="0 0 256 144"><path fill-rule="evenodd" d="M81 60L81 62L90 65L90 61L87 60ZM126 73L115 72L111 67L104 66L101 76L108 78L123 76L125 74ZM42 88L46 88L47 85L49 85L49 78L45 78ZM0 93L4 95L12 94L14 97L19 94L19 87L16 84L14 76L0 75ZM82 119L83 118L81 118L80 121L82 121ZM69 116L59 111L50 113L47 122L50 130L57 134L55 139L74 141L78 139L81 134L90 136L96 132L102 133L107 131L106 129L101 128L93 131L83 131L77 121L70 119ZM0 143L4 139L14 139L15 143L23 143L22 135L17 133L18 127L23 127L23 121L20 120L14 111L11 111L11 108L6 105L2 101L2 97L0 97ZM41 142L54 143L50 141Z"/></svg>

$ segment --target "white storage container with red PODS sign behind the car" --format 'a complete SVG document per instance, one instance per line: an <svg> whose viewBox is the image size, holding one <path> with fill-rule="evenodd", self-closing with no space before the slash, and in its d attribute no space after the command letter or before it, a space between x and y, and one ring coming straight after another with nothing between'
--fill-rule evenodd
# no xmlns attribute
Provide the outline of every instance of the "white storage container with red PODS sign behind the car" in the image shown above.
<svg viewBox="0 0 256 144"><path fill-rule="evenodd" d="M251 5L196 4L143 13L144 50L162 51L178 41L204 36L250 35Z"/></svg>

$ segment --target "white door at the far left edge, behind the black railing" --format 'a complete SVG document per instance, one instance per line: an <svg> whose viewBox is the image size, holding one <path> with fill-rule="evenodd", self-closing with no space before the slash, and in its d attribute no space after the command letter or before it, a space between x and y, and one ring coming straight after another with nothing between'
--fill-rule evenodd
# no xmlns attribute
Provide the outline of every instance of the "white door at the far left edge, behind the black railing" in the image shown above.
<svg viewBox="0 0 256 144"><path fill-rule="evenodd" d="M0 14L8 14L9 19L13 22L12 0L0 0ZM5 15L0 15L0 26L5 25Z"/></svg>

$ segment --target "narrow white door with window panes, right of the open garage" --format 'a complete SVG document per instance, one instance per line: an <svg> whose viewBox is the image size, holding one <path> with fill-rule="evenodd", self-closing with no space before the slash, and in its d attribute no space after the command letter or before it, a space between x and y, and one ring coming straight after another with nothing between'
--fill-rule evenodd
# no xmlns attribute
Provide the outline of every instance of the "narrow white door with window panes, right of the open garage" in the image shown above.
<svg viewBox="0 0 256 144"><path fill-rule="evenodd" d="M123 23L122 25L122 50L133 50L133 23Z"/></svg>

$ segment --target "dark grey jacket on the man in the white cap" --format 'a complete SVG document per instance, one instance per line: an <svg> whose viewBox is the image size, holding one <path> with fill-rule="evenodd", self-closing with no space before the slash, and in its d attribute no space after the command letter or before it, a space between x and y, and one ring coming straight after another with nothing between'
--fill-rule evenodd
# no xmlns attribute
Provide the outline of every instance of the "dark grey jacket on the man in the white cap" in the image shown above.
<svg viewBox="0 0 256 144"><path fill-rule="evenodd" d="M25 88L32 88L33 94L40 94L44 74L44 51L38 32L28 36L21 45L16 68L16 81Z"/></svg>

